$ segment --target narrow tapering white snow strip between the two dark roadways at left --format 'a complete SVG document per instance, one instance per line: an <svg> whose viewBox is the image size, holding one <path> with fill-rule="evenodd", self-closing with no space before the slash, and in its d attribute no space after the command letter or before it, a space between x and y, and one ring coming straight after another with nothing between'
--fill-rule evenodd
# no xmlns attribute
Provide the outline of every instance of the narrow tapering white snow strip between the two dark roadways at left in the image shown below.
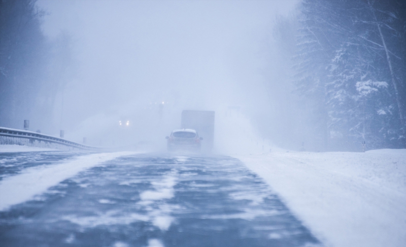
<svg viewBox="0 0 406 247"><path fill-rule="evenodd" d="M33 198L59 182L119 156L134 152L93 153L63 163L25 169L0 181L0 211Z"/></svg>

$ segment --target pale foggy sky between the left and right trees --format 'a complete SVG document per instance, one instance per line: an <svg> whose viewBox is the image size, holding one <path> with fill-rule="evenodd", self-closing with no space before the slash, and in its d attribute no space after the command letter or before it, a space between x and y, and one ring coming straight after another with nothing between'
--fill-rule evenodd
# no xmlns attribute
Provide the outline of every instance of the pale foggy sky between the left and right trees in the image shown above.
<svg viewBox="0 0 406 247"><path fill-rule="evenodd" d="M71 35L79 65L79 75L63 90L64 128L156 101L179 109L258 109L266 100L261 71L277 62L265 56L273 24L296 4L38 1L49 13L44 32Z"/></svg>

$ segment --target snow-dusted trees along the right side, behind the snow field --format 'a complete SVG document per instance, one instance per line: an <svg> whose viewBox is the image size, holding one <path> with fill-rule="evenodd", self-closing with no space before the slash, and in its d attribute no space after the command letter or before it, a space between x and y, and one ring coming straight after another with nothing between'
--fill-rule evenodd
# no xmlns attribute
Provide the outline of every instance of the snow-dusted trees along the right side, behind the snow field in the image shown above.
<svg viewBox="0 0 406 247"><path fill-rule="evenodd" d="M295 85L319 145L405 146L404 7L302 1Z"/></svg>

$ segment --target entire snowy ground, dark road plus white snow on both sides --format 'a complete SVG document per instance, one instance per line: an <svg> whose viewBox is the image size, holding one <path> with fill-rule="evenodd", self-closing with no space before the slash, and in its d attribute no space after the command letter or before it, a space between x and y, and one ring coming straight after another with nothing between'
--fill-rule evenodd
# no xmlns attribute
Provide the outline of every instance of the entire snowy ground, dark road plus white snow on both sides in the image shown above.
<svg viewBox="0 0 406 247"><path fill-rule="evenodd" d="M405 149L238 158L0 153L0 242L405 245Z"/></svg>

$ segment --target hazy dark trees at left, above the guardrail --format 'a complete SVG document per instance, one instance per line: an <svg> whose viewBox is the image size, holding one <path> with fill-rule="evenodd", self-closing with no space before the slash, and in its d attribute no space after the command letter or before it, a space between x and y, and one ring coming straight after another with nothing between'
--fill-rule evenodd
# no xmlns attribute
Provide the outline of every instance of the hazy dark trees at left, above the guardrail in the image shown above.
<svg viewBox="0 0 406 247"><path fill-rule="evenodd" d="M71 42L50 39L41 22L47 14L36 0L0 1L0 126L51 132L58 90L72 77Z"/></svg>

